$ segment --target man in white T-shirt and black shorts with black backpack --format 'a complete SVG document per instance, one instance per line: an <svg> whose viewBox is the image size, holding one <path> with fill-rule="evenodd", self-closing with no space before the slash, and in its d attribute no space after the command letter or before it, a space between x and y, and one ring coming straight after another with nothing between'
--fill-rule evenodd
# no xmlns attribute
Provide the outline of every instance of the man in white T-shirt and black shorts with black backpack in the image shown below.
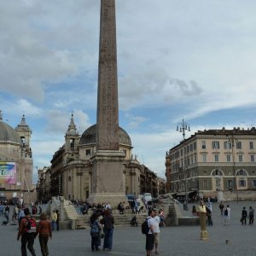
<svg viewBox="0 0 256 256"><path fill-rule="evenodd" d="M150 256L151 251L154 249L154 210L152 208L148 211L148 218L146 220L148 224L148 232L145 232L145 230L143 230L143 234L146 235L147 256Z"/></svg>

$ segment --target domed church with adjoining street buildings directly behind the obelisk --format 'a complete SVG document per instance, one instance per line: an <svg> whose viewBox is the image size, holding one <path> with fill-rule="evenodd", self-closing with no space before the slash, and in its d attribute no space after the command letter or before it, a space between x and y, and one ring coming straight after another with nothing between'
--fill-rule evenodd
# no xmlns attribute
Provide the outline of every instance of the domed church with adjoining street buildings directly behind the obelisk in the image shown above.
<svg viewBox="0 0 256 256"><path fill-rule="evenodd" d="M149 192L156 196L165 192L165 180L132 155L131 138L119 127L119 151L125 153L125 194L141 195ZM63 195L67 200L86 201L92 191L91 157L96 152L96 125L90 126L80 136L73 115L65 134L65 143L51 160L51 166L38 172L39 200L49 200L52 195ZM49 179L50 181L47 179ZM41 192L39 192L41 191Z"/></svg>

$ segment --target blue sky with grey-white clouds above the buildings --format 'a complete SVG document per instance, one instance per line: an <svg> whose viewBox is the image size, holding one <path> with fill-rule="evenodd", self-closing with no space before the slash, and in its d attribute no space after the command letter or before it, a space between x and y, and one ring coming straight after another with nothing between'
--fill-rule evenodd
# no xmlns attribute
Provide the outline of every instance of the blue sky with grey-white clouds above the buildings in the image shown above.
<svg viewBox="0 0 256 256"><path fill-rule="evenodd" d="M74 114L96 123L100 0L0 0L0 109L32 129L34 172ZM116 0L119 125L160 177L191 132L255 125L256 1Z"/></svg>

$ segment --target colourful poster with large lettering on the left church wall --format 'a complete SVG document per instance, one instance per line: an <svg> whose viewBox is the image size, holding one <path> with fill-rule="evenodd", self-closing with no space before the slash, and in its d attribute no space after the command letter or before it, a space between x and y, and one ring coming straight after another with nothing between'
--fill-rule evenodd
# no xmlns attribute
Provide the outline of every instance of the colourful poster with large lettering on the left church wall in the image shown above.
<svg viewBox="0 0 256 256"><path fill-rule="evenodd" d="M0 161L0 183L16 183L16 163Z"/></svg>

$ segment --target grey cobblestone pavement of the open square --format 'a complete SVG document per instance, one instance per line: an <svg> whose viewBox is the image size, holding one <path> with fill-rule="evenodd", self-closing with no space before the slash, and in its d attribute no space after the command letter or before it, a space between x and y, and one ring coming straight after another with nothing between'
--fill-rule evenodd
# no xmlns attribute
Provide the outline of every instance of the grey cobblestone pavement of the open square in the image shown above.
<svg viewBox="0 0 256 256"><path fill-rule="evenodd" d="M248 209L249 206L256 209L256 203L253 201L230 202L231 221L230 225L224 226L218 203L212 203L213 225L207 227L208 241L200 240L199 226L161 228L160 255L256 255L255 225L241 225L239 222L242 207ZM186 212L186 215L190 215L191 208L192 205L189 205L189 212ZM2 223L2 217L0 219ZM21 254L20 241L16 241L16 236L17 226L0 225L0 255ZM41 255L38 239L34 247L37 255ZM146 255L145 236L141 233L140 227L115 228L112 252L90 252L89 230L60 230L54 232L52 241L49 241L49 255Z"/></svg>

